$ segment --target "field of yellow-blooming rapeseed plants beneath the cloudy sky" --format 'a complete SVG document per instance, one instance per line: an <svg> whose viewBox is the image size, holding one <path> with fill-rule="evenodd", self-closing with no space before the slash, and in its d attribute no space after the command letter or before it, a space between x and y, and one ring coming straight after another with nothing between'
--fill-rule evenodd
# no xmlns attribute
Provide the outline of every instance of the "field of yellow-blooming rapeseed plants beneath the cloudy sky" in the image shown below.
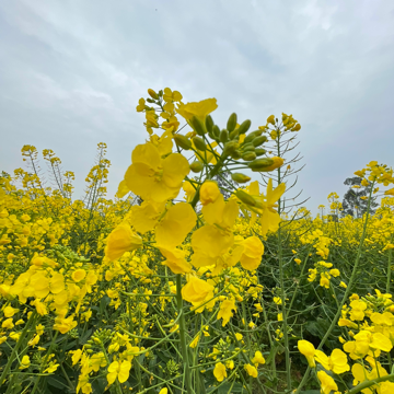
<svg viewBox="0 0 394 394"><path fill-rule="evenodd" d="M104 143L80 200L51 150L56 187L33 146L1 174L0 393L394 393L393 170L356 171L362 217L333 193L313 218L291 115L148 93L115 199Z"/></svg>

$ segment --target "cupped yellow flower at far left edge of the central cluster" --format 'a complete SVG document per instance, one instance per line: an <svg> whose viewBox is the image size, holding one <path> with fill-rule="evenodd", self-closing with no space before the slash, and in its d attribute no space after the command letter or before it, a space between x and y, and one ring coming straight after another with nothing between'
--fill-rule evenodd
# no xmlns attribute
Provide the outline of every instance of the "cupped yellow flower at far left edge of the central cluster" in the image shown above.
<svg viewBox="0 0 394 394"><path fill-rule="evenodd" d="M123 222L108 235L105 257L109 260L115 260L121 257L125 252L134 251L141 245L142 239L132 232L129 224Z"/></svg>

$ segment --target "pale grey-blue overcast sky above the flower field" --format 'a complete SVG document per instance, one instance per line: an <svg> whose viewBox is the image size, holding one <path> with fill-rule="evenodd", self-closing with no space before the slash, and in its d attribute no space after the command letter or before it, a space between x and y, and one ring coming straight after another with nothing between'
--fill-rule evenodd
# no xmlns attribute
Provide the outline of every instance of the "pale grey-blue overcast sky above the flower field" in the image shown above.
<svg viewBox="0 0 394 394"><path fill-rule="evenodd" d="M371 160L394 166L393 48L386 0L2 1L0 171L24 165L24 144L53 149L78 198L103 141L112 198L148 136L138 100L169 86L216 97L221 127L292 114L316 211Z"/></svg>

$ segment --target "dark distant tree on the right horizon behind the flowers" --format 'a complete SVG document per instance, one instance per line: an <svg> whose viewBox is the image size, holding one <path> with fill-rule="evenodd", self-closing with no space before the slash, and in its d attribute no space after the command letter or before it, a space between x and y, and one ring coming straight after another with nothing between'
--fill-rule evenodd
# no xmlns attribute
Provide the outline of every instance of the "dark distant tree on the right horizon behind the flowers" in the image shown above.
<svg viewBox="0 0 394 394"><path fill-rule="evenodd" d="M349 185L350 188L344 196L341 216L346 217L347 215L350 215L354 218L361 218L362 215L367 212L368 207L368 199L362 199L361 197L369 196L372 184L369 182L368 186L362 186L359 176L346 178L344 184ZM359 186L359 188L354 188L351 186ZM378 207L378 202L371 201L371 215L375 212L374 208Z"/></svg>

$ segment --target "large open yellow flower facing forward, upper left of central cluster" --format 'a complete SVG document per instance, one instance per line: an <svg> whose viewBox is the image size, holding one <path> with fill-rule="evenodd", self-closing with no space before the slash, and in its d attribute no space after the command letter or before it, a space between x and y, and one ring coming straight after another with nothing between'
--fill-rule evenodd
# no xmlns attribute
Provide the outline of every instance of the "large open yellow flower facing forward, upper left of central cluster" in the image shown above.
<svg viewBox="0 0 394 394"><path fill-rule="evenodd" d="M150 142L137 146L125 174L127 187L146 201L175 198L190 171L187 159L181 153L162 159L159 149Z"/></svg>

